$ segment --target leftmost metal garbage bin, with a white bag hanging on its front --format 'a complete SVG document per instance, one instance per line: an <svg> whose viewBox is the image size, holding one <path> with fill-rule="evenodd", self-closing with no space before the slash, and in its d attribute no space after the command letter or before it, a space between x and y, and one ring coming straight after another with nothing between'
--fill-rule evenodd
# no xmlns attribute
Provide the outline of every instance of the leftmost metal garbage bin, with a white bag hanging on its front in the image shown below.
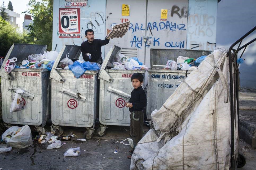
<svg viewBox="0 0 256 170"><path fill-rule="evenodd" d="M7 74L4 65L7 59L17 58L21 63L31 54L40 54L46 50L46 45L13 44L8 51L0 69L2 88L3 121L7 127L12 124L36 126L36 130L45 134L45 123L48 119L49 75L47 69L15 68ZM21 94L24 109L10 112L12 99L17 89L24 91Z"/></svg>

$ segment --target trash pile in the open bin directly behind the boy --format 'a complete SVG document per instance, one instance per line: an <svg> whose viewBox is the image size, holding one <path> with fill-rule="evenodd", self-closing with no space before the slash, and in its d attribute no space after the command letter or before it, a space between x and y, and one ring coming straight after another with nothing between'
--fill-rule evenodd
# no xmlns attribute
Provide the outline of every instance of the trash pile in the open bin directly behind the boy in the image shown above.
<svg viewBox="0 0 256 170"><path fill-rule="evenodd" d="M137 57L129 58L121 53L115 57L115 62L112 63L113 70L148 70L148 67L143 65Z"/></svg>

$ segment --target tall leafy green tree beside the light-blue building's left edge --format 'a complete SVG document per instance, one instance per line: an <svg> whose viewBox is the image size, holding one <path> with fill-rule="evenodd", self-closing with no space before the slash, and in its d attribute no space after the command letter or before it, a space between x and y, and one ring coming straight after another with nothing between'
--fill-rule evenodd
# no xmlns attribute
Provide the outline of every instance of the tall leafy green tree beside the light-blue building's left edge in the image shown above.
<svg viewBox="0 0 256 170"><path fill-rule="evenodd" d="M33 24L28 26L30 41L35 44L47 45L47 50L52 49L52 17L53 0L30 0L28 6L31 7L22 13L29 13L33 17Z"/></svg>

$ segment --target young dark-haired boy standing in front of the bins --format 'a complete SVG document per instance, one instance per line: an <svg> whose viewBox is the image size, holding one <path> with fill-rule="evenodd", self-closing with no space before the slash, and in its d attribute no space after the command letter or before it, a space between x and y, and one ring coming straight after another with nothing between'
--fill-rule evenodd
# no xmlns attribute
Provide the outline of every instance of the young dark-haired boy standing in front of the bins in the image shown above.
<svg viewBox="0 0 256 170"><path fill-rule="evenodd" d="M133 84L134 89L131 92L131 98L129 102L126 103L126 107L129 107L129 111L131 112L130 135L133 138L134 148L142 138L144 120L142 109L143 107L147 106L146 94L143 88L141 87L143 79L144 77L143 74L141 73L134 73L131 76L131 82ZM130 150L129 152L133 153L133 150ZM131 159L131 155L129 155L127 158Z"/></svg>

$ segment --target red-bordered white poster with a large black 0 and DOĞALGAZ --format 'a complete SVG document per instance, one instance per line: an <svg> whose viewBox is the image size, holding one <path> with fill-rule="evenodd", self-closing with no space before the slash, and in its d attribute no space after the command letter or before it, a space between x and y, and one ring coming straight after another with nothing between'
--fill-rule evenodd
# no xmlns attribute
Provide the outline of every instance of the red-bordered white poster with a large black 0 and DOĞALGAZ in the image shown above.
<svg viewBox="0 0 256 170"><path fill-rule="evenodd" d="M59 38L80 38L80 8L59 8Z"/></svg>

